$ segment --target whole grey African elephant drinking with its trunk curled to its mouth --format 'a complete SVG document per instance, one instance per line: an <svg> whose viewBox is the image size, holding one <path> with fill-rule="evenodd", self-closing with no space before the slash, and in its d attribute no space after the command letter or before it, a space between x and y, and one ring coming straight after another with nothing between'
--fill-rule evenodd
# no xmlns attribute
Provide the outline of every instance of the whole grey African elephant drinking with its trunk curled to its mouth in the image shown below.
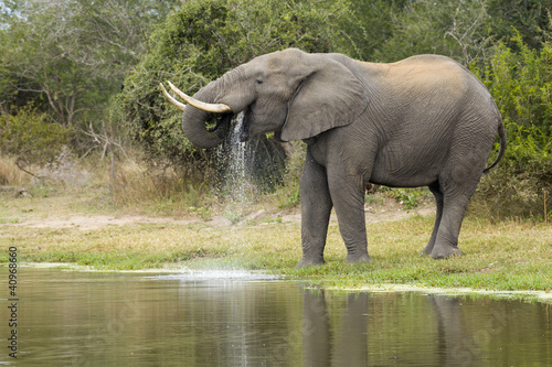
<svg viewBox="0 0 552 367"><path fill-rule="evenodd" d="M307 143L298 267L325 262L332 207L347 260L371 260L363 206L368 183L428 186L437 215L422 253L460 255L458 235L468 201L506 149L502 119L489 91L464 66L438 55L376 64L288 48L237 66L193 97L170 86L191 105L162 88L183 109L184 134L198 147L220 144L231 117L241 111L244 140L273 131L282 141ZM208 129L205 121L213 119L216 127ZM485 168L497 133L500 151Z"/></svg>

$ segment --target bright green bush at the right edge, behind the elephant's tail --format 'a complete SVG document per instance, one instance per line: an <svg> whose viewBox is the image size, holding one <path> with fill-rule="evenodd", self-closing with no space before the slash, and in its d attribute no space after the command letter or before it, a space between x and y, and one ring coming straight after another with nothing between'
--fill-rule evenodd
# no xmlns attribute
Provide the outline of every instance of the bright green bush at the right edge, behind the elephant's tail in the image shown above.
<svg viewBox="0 0 552 367"><path fill-rule="evenodd" d="M552 207L552 43L538 51L520 34L512 42L517 52L499 44L482 68L473 67L497 101L508 134L505 159L478 195L496 216L544 218Z"/></svg>

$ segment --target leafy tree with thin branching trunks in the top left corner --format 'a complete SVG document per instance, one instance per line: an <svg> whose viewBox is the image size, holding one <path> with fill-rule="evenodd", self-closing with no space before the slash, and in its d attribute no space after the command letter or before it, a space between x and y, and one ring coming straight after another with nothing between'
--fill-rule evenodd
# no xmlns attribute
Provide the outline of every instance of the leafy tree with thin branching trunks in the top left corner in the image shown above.
<svg viewBox="0 0 552 367"><path fill-rule="evenodd" d="M0 97L34 100L62 126L97 120L176 0L7 2ZM96 118L96 119L95 119Z"/></svg>

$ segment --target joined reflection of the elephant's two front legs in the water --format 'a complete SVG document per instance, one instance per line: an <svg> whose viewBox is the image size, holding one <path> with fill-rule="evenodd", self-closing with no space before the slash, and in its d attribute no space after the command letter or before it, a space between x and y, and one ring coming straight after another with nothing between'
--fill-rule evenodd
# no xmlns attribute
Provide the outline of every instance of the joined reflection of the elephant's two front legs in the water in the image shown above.
<svg viewBox="0 0 552 367"><path fill-rule="evenodd" d="M325 293L320 292L304 290L302 365L367 366L368 293L347 296L340 324L332 332Z"/></svg>

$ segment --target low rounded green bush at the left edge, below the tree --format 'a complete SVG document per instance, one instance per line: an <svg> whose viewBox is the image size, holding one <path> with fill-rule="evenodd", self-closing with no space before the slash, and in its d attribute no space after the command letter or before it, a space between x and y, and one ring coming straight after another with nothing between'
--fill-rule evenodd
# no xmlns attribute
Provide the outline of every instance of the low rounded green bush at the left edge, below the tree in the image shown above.
<svg viewBox="0 0 552 367"><path fill-rule="evenodd" d="M0 152L20 162L51 162L67 143L70 130L49 122L45 114L32 106L15 115L0 114Z"/></svg>

